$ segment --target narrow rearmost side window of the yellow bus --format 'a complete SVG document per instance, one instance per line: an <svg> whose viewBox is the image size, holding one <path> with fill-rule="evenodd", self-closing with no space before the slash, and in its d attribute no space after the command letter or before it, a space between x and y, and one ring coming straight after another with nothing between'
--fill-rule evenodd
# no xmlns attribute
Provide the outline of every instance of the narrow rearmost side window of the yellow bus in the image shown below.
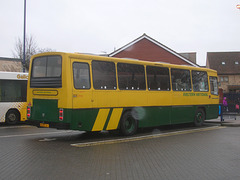
<svg viewBox="0 0 240 180"><path fill-rule="evenodd" d="M73 81L75 89L90 89L89 65L87 63L73 63Z"/></svg>

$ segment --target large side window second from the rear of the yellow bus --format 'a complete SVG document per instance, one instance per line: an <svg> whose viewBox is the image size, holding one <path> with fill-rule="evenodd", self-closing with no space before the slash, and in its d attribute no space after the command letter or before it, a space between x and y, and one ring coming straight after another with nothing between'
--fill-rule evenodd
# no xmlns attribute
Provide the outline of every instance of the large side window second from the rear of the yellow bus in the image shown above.
<svg viewBox="0 0 240 180"><path fill-rule="evenodd" d="M113 62L92 61L92 73L94 89L117 89L116 69Z"/></svg>

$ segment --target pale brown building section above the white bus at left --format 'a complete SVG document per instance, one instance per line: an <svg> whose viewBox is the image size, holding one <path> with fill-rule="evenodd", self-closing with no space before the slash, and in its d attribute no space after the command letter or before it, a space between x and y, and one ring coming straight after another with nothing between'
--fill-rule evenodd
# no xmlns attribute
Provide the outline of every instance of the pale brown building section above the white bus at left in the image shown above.
<svg viewBox="0 0 240 180"><path fill-rule="evenodd" d="M0 60L0 71L21 72L22 64L20 61Z"/></svg>

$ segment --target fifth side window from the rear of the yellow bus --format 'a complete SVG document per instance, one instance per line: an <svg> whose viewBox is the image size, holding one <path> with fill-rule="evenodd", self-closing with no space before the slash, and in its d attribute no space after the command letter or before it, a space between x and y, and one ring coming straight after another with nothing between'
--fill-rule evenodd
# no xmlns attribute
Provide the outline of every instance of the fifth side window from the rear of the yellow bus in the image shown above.
<svg viewBox="0 0 240 180"><path fill-rule="evenodd" d="M190 71L171 69L172 89L174 91L191 91Z"/></svg>

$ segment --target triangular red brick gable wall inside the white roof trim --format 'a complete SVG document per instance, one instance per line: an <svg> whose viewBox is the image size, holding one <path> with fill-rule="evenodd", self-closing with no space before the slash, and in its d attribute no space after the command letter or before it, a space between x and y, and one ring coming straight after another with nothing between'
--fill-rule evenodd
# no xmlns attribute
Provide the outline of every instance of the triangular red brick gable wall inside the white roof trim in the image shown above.
<svg viewBox="0 0 240 180"><path fill-rule="evenodd" d="M142 39L113 57L133 58L154 62L166 62L171 64L190 65L179 57L157 46L153 42Z"/></svg>

